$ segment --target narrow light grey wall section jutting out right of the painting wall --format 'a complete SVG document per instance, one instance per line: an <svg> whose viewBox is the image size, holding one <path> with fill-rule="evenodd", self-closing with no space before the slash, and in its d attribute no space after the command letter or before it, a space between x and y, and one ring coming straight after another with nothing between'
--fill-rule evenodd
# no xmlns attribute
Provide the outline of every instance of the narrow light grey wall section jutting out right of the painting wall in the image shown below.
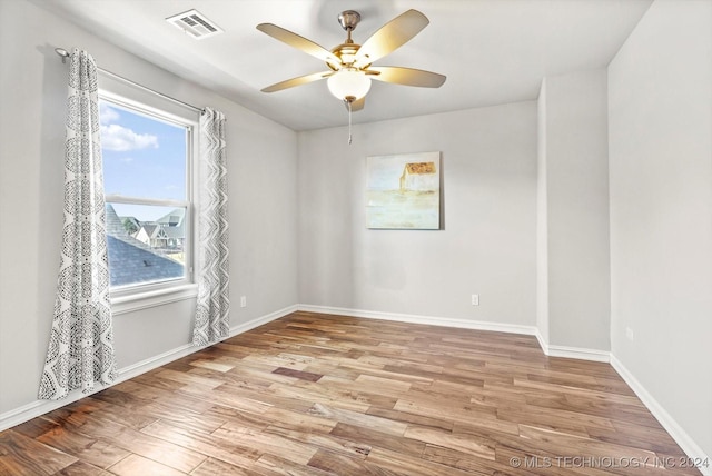
<svg viewBox="0 0 712 476"><path fill-rule="evenodd" d="M551 76L538 103L540 308L552 348L610 350L607 90L603 69ZM547 334L544 334L547 333Z"/></svg>

